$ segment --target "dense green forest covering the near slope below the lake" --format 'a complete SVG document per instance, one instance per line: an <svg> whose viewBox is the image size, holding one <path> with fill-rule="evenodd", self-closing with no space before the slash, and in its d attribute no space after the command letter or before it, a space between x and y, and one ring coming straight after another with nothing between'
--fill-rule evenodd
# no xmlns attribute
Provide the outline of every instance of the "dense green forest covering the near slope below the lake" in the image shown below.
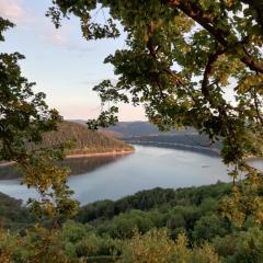
<svg viewBox="0 0 263 263"><path fill-rule="evenodd" d="M64 222L53 240L54 249L71 262L262 262L263 231L235 227L221 215L220 202L231 185L188 188L153 188L80 208ZM9 208L7 208L9 207ZM18 231L36 222L19 201L0 196L2 227L11 229L0 248L8 250ZM31 233L32 235L32 233ZM35 236L34 236L35 235ZM27 262L33 236L21 236L12 252L15 262Z"/></svg>

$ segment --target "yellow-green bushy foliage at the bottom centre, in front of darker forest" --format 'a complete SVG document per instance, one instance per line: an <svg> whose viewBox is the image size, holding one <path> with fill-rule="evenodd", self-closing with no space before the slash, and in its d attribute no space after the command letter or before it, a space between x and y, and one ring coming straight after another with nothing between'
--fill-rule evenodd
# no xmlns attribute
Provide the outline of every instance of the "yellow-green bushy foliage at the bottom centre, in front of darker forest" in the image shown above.
<svg viewBox="0 0 263 263"><path fill-rule="evenodd" d="M221 262L215 253L215 249L205 243L193 250L187 248L187 239L179 235L172 241L165 230L151 230L144 236L135 233L124 249L124 259L121 262Z"/></svg>

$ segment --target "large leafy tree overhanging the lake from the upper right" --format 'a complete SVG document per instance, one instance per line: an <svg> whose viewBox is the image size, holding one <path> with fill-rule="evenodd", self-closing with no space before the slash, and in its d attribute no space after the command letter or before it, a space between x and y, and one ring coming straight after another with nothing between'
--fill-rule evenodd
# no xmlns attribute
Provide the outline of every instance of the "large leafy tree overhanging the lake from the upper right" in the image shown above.
<svg viewBox="0 0 263 263"><path fill-rule="evenodd" d="M108 11L104 24L92 18L101 9ZM94 87L112 106L90 127L115 123L117 102L142 104L161 129L193 126L211 144L224 140L221 156L233 165L235 185L239 171L249 174L247 196L258 196L262 185L259 172L245 162L263 153L262 13L261 0L54 0L47 11L57 27L64 16L78 16L88 41L126 35L125 47L105 58L117 82ZM235 100L226 99L227 89ZM254 208L262 221L259 198Z"/></svg>

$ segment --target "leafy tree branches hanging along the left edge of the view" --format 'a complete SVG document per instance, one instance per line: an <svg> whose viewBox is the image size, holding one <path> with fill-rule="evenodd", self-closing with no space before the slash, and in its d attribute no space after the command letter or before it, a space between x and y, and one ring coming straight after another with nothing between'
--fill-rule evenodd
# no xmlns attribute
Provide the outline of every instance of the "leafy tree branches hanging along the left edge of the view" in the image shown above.
<svg viewBox="0 0 263 263"><path fill-rule="evenodd" d="M3 31L14 26L0 18L0 41ZM31 199L32 209L56 221L77 208L67 186L68 170L56 161L64 157L64 146L35 147L46 132L55 130L61 116L45 103L45 94L34 93L34 82L22 76L19 53L0 53L0 161L15 161L23 173L23 183L34 187L39 199Z"/></svg>

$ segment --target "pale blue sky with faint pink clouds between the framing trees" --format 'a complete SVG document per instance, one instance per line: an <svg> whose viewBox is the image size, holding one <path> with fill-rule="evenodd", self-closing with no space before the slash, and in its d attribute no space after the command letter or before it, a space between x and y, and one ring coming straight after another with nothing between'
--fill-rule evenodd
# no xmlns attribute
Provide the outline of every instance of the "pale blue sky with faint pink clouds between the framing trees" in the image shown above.
<svg viewBox="0 0 263 263"><path fill-rule="evenodd" d="M56 30L45 16L52 0L0 0L0 15L16 26L9 30L1 52L23 54L24 77L36 82L35 92L46 93L46 102L66 119L94 118L101 103L92 87L103 79L116 79L113 67L104 65L108 54L122 48L124 36L115 41L87 42L76 18L64 20ZM98 14L98 19L100 19ZM119 121L145 121L142 107L121 105Z"/></svg>

